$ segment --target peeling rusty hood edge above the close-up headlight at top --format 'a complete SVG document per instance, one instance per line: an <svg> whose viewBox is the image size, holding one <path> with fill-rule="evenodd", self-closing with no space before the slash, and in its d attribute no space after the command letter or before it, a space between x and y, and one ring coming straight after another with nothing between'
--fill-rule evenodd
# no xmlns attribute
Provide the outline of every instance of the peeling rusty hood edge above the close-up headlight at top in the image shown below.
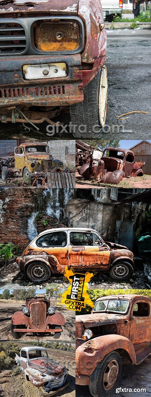
<svg viewBox="0 0 151 397"><path fill-rule="evenodd" d="M0 0L0 15L4 13L49 13L49 15L77 15L78 0Z"/></svg>

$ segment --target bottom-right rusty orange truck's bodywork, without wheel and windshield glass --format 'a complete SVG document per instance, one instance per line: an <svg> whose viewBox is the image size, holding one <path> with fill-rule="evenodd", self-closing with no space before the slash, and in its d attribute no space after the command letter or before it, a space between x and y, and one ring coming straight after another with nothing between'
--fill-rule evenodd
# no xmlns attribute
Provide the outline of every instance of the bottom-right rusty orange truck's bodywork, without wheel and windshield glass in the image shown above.
<svg viewBox="0 0 151 397"><path fill-rule="evenodd" d="M95 312L96 304L100 302L104 304L106 301L115 301L115 305L117 302L119 306L120 301L126 302L125 312ZM151 299L141 295L101 297L94 303L91 314L76 316L76 384L89 385L91 374L98 364L113 351L128 355L136 365L151 355L150 309L148 319L144 318L144 324L142 319L138 318L136 327L139 330L135 339L133 336L132 310L136 302L141 301L149 304L151 308Z"/></svg>

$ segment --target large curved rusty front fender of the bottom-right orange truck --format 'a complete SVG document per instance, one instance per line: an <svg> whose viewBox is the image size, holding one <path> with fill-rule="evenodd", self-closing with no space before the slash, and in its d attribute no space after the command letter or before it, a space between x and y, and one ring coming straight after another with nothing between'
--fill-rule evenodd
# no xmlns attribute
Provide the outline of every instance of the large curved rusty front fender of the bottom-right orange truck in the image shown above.
<svg viewBox="0 0 151 397"><path fill-rule="evenodd" d="M124 349L136 364L136 353L132 342L122 335L103 335L85 342L76 350L76 372L90 376L103 358L112 351Z"/></svg>

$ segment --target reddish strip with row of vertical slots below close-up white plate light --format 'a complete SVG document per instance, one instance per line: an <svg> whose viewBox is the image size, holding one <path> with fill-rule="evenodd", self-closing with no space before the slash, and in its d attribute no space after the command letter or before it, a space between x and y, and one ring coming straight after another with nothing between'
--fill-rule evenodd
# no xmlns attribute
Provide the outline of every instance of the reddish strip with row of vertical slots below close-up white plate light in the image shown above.
<svg viewBox="0 0 151 397"><path fill-rule="evenodd" d="M1 88L0 89L0 99L1 98L19 98L23 96L31 96L36 98L36 96L43 96L43 98L50 95L65 94L64 85L60 86L47 86L47 87L26 87L26 88Z"/></svg>

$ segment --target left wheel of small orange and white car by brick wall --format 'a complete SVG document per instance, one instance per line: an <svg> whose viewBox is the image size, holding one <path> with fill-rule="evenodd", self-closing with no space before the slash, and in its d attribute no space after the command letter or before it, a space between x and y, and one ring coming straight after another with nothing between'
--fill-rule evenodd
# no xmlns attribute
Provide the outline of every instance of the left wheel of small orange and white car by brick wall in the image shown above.
<svg viewBox="0 0 151 397"><path fill-rule="evenodd" d="M26 274L31 281L43 282L47 281L51 277L51 270L46 263L37 261L30 263L26 269Z"/></svg>

